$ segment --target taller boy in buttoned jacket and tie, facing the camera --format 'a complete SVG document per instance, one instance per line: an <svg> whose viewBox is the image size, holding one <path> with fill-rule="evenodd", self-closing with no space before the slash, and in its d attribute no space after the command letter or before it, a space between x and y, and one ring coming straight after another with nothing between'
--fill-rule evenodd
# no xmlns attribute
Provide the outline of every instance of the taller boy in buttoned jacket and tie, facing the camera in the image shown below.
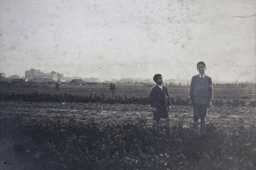
<svg viewBox="0 0 256 170"><path fill-rule="evenodd" d="M212 79L205 75L206 65L204 62L198 62L197 70L199 74L192 77L189 88L189 105L193 106L194 126L197 126L198 119L201 118L201 127L205 125L207 108L212 101Z"/></svg>

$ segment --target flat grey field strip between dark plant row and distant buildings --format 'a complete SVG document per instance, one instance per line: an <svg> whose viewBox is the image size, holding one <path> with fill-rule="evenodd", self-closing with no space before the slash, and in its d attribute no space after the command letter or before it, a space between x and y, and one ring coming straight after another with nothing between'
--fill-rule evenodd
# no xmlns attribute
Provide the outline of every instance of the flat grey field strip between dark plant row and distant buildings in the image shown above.
<svg viewBox="0 0 256 170"><path fill-rule="evenodd" d="M116 96L136 96L147 97L152 87L144 86L116 86ZM180 96L188 97L188 87L168 87L171 97ZM35 86L17 86L17 87L0 87L1 93L50 93L50 94L72 94L72 95L102 95L111 96L108 85L61 85L57 91L55 85L44 87ZM214 98L216 99L256 99L256 88L214 88Z"/></svg>

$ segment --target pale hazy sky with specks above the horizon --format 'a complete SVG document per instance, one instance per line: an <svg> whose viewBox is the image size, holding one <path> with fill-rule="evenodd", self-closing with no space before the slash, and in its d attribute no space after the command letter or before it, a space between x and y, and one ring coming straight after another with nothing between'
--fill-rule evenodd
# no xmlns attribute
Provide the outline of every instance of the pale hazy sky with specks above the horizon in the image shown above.
<svg viewBox="0 0 256 170"><path fill-rule="evenodd" d="M0 72L256 81L256 0L0 0Z"/></svg>

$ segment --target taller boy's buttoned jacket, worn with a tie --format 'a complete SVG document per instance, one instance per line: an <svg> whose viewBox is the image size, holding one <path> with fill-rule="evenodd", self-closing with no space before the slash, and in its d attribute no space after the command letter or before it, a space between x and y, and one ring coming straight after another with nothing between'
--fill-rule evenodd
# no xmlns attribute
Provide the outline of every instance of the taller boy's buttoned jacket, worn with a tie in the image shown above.
<svg viewBox="0 0 256 170"><path fill-rule="evenodd" d="M204 75L201 82L200 75L192 77L189 98L192 99L193 104L208 104L209 99L212 99L212 79L211 77Z"/></svg>

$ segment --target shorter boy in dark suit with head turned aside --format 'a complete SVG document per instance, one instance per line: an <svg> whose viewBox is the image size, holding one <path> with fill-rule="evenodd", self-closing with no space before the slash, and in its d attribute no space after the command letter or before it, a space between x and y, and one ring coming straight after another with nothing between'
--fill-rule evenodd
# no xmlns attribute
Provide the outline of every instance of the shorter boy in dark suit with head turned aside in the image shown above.
<svg viewBox="0 0 256 170"><path fill-rule="evenodd" d="M168 111L171 108L171 101L168 90L163 86L163 77L161 74L154 75L156 86L152 88L150 93L151 107L153 108L153 119L158 123L161 118L166 120L166 125L169 124Z"/></svg>

